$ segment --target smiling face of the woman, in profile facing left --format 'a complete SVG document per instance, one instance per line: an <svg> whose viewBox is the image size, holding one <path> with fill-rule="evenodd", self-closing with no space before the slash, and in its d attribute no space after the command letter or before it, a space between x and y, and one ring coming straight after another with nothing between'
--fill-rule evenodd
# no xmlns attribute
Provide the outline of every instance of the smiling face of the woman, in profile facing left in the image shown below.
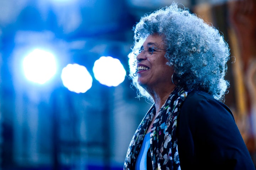
<svg viewBox="0 0 256 170"><path fill-rule="evenodd" d="M149 35L137 56L138 83L145 90L156 91L172 84L174 69L167 66L162 37Z"/></svg>

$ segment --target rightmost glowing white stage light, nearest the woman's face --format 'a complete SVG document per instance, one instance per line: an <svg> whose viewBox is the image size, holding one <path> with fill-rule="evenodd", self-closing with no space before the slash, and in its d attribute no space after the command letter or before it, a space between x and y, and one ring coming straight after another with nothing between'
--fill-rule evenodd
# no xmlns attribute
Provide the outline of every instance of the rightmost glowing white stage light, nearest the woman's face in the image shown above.
<svg viewBox="0 0 256 170"><path fill-rule="evenodd" d="M106 86L118 86L124 81L126 70L117 58L100 57L92 69L94 77Z"/></svg>

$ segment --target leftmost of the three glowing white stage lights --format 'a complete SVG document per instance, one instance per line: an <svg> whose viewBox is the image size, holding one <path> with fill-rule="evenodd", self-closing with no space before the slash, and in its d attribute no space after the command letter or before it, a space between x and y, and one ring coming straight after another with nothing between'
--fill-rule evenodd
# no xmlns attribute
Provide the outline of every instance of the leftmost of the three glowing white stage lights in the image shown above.
<svg viewBox="0 0 256 170"><path fill-rule="evenodd" d="M52 53L35 49L23 60L23 69L28 80L44 84L56 73L56 62Z"/></svg>

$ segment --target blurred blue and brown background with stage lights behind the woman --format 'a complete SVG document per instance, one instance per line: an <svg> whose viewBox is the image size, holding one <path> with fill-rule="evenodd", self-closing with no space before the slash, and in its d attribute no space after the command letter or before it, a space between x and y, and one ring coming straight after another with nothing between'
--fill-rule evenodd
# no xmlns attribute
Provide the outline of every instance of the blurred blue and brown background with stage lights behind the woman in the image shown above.
<svg viewBox="0 0 256 170"><path fill-rule="evenodd" d="M175 2L230 45L225 104L256 164L256 0ZM152 104L128 78L132 27L171 3L0 0L1 169L122 170Z"/></svg>

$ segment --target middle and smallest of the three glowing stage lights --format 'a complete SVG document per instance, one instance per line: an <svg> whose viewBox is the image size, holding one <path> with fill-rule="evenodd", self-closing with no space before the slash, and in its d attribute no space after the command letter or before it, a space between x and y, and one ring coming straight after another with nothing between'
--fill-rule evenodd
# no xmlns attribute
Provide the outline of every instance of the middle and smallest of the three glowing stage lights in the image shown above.
<svg viewBox="0 0 256 170"><path fill-rule="evenodd" d="M68 64L63 68L61 79L66 88L76 93L85 93L92 86L90 73L79 64Z"/></svg>

